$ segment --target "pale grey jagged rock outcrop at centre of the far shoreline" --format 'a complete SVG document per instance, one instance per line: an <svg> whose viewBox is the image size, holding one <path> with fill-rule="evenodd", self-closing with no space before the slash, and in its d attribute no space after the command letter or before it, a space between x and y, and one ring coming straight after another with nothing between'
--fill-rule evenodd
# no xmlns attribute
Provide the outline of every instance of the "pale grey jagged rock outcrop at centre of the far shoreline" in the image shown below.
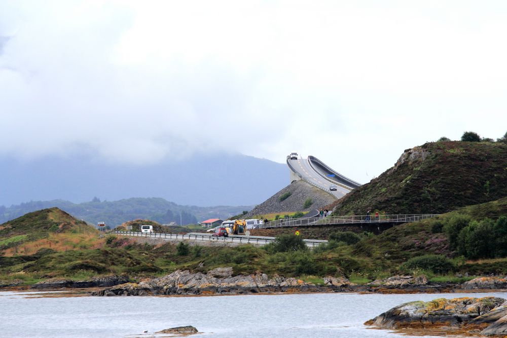
<svg viewBox="0 0 507 338"><path fill-rule="evenodd" d="M207 274L175 271L170 275L125 283L94 291L92 295L157 295L157 294L244 294L258 292L322 292L325 288L295 278L266 274L233 276L232 268L217 268Z"/></svg>

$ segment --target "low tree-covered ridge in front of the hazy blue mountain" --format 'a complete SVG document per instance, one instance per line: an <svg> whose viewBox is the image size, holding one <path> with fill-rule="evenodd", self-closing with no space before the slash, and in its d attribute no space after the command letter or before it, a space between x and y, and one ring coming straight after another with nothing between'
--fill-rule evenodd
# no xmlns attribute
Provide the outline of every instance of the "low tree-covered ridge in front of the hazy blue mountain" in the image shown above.
<svg viewBox="0 0 507 338"><path fill-rule="evenodd" d="M54 200L22 203L9 208L0 207L0 222L14 219L27 212L52 207L58 207L74 217L92 224L105 221L112 228L123 222L139 218L151 219L161 224L170 222L180 224L180 220L183 224L192 224L208 218L227 218L243 210L251 209L250 206L182 206L162 198L129 198L111 202L95 198L91 202L79 204Z"/></svg>

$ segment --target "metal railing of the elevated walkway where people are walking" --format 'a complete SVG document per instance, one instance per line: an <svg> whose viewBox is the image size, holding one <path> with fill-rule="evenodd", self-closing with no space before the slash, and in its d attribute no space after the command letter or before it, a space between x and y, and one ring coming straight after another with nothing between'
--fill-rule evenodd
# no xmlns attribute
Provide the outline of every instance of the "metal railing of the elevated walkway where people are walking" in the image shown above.
<svg viewBox="0 0 507 338"><path fill-rule="evenodd" d="M407 223L432 218L438 214L401 214L401 215L353 215L329 216L313 218L275 219L263 224L260 228L308 227L340 224L371 224L371 223Z"/></svg>

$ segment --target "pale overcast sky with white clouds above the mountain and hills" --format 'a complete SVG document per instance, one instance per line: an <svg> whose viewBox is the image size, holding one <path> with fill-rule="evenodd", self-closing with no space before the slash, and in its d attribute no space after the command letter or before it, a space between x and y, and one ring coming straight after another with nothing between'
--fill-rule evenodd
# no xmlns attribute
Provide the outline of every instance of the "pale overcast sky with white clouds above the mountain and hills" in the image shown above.
<svg viewBox="0 0 507 338"><path fill-rule="evenodd" d="M505 1L0 2L0 156L314 155L507 131Z"/></svg>

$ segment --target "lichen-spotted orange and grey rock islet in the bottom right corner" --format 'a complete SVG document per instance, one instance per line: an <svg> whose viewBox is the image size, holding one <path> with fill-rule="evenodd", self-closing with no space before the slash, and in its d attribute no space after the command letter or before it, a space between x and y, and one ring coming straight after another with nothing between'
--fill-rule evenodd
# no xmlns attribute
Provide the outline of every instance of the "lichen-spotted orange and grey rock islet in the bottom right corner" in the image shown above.
<svg viewBox="0 0 507 338"><path fill-rule="evenodd" d="M410 302L396 306L367 321L385 329L425 334L507 334L507 302L499 297L438 298L430 302Z"/></svg>

